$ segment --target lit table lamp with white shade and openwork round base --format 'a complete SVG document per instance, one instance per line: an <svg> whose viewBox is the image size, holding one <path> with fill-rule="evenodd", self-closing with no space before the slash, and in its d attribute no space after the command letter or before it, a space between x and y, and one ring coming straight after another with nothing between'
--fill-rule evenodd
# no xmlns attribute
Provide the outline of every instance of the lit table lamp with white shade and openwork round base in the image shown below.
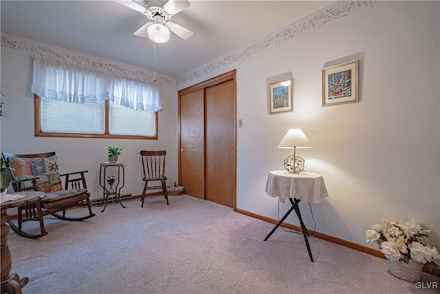
<svg viewBox="0 0 440 294"><path fill-rule="evenodd" d="M296 147L309 148L313 147L309 139L305 136L301 129L289 129L283 140L278 144L278 148L294 148L294 155L288 156L284 160L284 168L290 174L299 174L304 170L305 160L296 155Z"/></svg>

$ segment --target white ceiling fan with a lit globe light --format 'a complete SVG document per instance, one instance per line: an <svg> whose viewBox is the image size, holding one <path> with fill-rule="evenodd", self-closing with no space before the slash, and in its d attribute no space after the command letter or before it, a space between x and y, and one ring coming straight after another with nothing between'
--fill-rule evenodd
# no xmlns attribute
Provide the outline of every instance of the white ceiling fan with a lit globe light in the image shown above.
<svg viewBox="0 0 440 294"><path fill-rule="evenodd" d="M170 31L177 34L181 39L188 40L194 32L183 26L173 23L171 17L188 8L190 3L186 0L113 0L144 14L149 20L134 32L135 36L148 36L154 43L166 43L170 39Z"/></svg>

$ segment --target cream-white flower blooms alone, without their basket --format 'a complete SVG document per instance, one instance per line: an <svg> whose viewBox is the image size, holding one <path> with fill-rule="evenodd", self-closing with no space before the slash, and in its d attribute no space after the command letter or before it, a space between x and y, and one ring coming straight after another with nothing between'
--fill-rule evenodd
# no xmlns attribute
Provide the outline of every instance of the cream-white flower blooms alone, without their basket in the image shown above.
<svg viewBox="0 0 440 294"><path fill-rule="evenodd" d="M366 242L376 242L379 249L388 260L400 260L408 263L410 260L431 264L436 268L434 260L440 260L440 253L425 240L431 230L422 230L417 220L386 221L382 224L373 224L371 230L366 231Z"/></svg>

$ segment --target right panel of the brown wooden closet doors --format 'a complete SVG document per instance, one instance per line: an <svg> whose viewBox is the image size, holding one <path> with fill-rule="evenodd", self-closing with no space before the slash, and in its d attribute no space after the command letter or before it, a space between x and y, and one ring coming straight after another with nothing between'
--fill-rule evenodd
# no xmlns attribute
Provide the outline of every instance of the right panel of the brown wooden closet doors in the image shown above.
<svg viewBox="0 0 440 294"><path fill-rule="evenodd" d="M205 88L205 198L234 207L235 81Z"/></svg>

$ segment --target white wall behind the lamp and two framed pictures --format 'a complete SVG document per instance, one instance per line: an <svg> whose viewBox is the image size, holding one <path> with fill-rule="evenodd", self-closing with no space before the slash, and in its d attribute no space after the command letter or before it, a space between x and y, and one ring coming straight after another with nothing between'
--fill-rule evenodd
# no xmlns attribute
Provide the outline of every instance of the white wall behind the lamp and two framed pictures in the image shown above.
<svg viewBox="0 0 440 294"><path fill-rule="evenodd" d="M277 218L267 172L283 169L292 150L277 145L299 127L314 148L297 154L324 176L330 195L311 206L317 231L365 244L365 231L382 219L416 219L440 248L439 2L365 3L333 3L289 25L294 33L281 30L188 72L178 89L237 70L237 208ZM353 59L360 102L322 107L322 68ZM267 80L286 72L294 112L270 115ZM300 207L314 229L308 203ZM288 208L281 204L281 215ZM294 215L287 222L298 224Z"/></svg>

